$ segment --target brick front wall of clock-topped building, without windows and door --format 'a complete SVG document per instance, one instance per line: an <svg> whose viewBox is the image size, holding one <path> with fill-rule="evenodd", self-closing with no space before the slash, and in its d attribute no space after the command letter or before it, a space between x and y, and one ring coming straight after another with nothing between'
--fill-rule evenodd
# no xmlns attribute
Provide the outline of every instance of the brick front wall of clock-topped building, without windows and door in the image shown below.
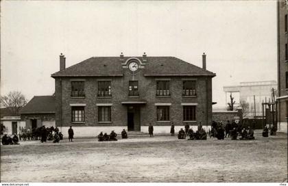
<svg viewBox="0 0 288 186"><path fill-rule="evenodd" d="M182 79L196 79L197 97L182 97ZM158 77L144 77L143 69L135 73L132 79L132 73L128 69L123 69L123 77L86 77L85 80L85 98L71 98L71 80L73 78L65 77L62 81L62 91L60 78L56 78L56 125L58 127L127 127L127 106L122 105L122 101L139 101L146 100L147 104L141 107L141 126L148 126L149 122L154 125L167 126L174 122L175 125L181 126L185 123L182 121L182 105L181 103L197 103L196 118L197 121L191 124L197 125L202 122L203 125L210 125L212 120L212 81L211 77L165 77L162 79L170 79L169 98L156 97L156 80ZM83 79L83 78L77 78ZM97 97L97 81L100 79L111 80L112 98ZM128 83L130 80L139 81L139 98L128 97ZM62 101L62 109L61 109ZM71 123L71 106L70 104L84 103L85 107L85 123ZM111 116L112 122L103 124L97 122L98 111L97 103L112 103ZM171 103L170 106L170 122L156 122L156 106L155 103ZM62 113L62 114L61 114ZM61 118L62 116L62 118ZM62 120L62 122L60 122ZM142 129L141 129L142 130Z"/></svg>

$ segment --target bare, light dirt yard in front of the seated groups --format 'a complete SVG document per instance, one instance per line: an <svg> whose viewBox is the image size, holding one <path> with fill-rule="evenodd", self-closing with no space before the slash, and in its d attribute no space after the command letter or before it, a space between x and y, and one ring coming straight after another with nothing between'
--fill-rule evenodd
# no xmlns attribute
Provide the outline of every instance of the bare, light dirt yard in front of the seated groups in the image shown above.
<svg viewBox="0 0 288 186"><path fill-rule="evenodd" d="M287 134L190 141L169 135L117 142L1 146L1 182L287 182Z"/></svg>

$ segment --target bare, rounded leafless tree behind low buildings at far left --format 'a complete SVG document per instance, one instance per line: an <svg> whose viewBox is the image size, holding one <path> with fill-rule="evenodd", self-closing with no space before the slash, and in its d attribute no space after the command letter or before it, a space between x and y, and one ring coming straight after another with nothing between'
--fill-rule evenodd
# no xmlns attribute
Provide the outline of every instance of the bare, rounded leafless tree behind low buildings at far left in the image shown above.
<svg viewBox="0 0 288 186"><path fill-rule="evenodd" d="M27 103L25 96L19 91L9 92L5 96L1 96L0 105L10 111L12 116L18 116L19 110Z"/></svg>

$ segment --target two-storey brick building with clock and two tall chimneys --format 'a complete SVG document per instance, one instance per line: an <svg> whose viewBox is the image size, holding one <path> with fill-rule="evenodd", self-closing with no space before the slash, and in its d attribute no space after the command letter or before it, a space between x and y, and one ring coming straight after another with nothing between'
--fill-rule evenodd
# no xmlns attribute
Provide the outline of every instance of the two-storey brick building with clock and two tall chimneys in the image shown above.
<svg viewBox="0 0 288 186"><path fill-rule="evenodd" d="M75 136L122 129L155 133L184 124L210 126L215 73L176 57L91 57L51 75L56 85L56 126Z"/></svg>

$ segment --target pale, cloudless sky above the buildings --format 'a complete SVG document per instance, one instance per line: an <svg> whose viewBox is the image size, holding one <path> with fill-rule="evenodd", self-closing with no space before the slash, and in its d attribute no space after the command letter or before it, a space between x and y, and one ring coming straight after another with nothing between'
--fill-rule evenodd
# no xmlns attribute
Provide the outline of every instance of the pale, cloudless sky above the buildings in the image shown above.
<svg viewBox="0 0 288 186"><path fill-rule="evenodd" d="M276 1L1 1L1 95L51 95L59 70L97 56L175 56L223 86L277 80Z"/></svg>

